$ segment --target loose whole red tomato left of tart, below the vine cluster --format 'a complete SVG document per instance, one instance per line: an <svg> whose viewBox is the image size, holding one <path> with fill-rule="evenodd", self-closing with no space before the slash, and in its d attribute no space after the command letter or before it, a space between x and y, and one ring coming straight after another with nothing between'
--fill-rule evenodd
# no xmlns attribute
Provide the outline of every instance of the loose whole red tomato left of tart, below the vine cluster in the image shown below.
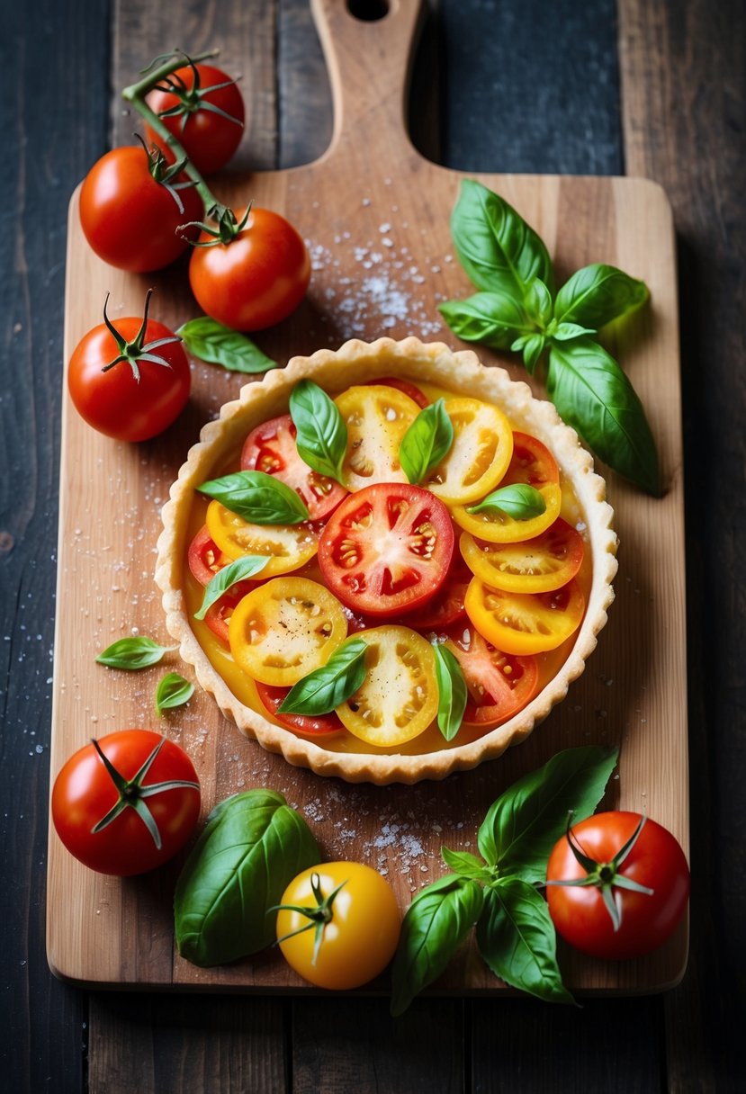
<svg viewBox="0 0 746 1094"><path fill-rule="evenodd" d="M191 386L189 361L176 337L148 318L104 322L81 339L68 368L68 388L78 412L100 433L118 441L145 441L178 417Z"/></svg>

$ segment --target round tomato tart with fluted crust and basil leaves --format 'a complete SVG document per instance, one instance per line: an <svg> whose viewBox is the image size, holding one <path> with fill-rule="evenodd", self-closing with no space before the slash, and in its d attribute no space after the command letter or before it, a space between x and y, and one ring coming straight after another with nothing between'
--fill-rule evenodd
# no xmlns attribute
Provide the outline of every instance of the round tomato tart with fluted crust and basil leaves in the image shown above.
<svg viewBox="0 0 746 1094"><path fill-rule="evenodd" d="M163 510L156 582L200 685L270 752L441 779L561 700L614 598L605 484L470 350L346 342L247 384Z"/></svg>

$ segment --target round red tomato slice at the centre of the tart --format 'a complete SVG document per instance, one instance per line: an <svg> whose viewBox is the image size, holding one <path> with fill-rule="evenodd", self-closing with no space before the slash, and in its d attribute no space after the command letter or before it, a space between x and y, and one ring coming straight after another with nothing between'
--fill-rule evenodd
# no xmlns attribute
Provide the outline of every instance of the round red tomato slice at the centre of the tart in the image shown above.
<svg viewBox="0 0 746 1094"><path fill-rule="evenodd" d="M429 490L376 482L335 510L318 540L329 589L354 612L392 618L443 584L453 556L448 511Z"/></svg>

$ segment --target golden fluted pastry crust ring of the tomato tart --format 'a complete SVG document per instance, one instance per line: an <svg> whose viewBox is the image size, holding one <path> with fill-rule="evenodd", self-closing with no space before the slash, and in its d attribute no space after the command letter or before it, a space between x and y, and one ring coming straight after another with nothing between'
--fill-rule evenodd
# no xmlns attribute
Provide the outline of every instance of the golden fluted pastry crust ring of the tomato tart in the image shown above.
<svg viewBox="0 0 746 1094"><path fill-rule="evenodd" d="M246 707L233 695L199 644L182 587L195 490L215 473L228 454L240 447L249 430L268 418L287 414L290 393L303 377L337 394L351 384L384 375L435 384L455 394L494 403L515 427L544 441L583 511L592 555L585 616L558 673L518 714L477 741L419 755L333 752ZM594 472L591 454L582 447L574 430L561 421L552 404L534 398L528 385L511 380L504 369L486 368L471 350L453 351L442 342L421 342L413 337L401 341L380 338L371 344L353 339L336 351L322 349L311 357L294 357L287 368L272 370L260 382L246 384L238 398L225 404L220 417L203 427L199 442L190 449L171 488L171 500L163 509L155 569L166 627L179 642L182 657L194 666L199 684L214 697L223 714L233 719L247 737L269 752L281 753L288 763L311 768L317 775L378 785L443 779L453 771L493 759L509 745L523 741L555 703L564 698L570 684L583 672L614 600L617 537L605 496L604 479Z"/></svg>

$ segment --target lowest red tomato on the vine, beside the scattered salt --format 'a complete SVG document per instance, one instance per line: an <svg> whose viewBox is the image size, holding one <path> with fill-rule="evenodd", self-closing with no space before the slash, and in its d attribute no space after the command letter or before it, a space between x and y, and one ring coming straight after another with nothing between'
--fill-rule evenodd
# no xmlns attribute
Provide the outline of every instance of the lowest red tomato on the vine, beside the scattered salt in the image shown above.
<svg viewBox="0 0 746 1094"><path fill-rule="evenodd" d="M235 211L238 224L245 209ZM212 242L210 242L212 240ZM311 259L284 217L252 207L228 243L202 232L189 259L189 283L200 307L234 330L263 330L280 323L305 296Z"/></svg>

